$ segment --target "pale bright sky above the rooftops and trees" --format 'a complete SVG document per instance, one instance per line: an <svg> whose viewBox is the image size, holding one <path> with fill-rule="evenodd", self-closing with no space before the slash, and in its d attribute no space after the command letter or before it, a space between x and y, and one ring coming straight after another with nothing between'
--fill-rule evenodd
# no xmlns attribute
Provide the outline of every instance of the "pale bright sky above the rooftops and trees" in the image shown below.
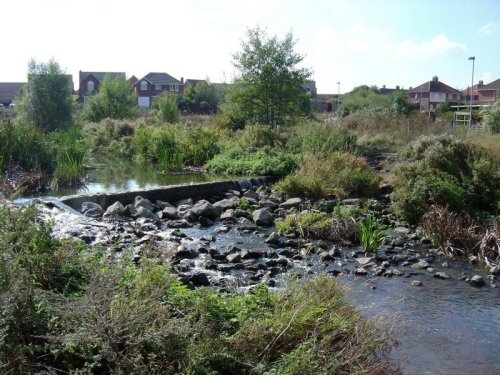
<svg viewBox="0 0 500 375"><path fill-rule="evenodd" d="M292 32L318 93L500 78L500 0L0 0L0 82L28 61L231 82L248 29ZM340 82L340 85L338 84Z"/></svg>

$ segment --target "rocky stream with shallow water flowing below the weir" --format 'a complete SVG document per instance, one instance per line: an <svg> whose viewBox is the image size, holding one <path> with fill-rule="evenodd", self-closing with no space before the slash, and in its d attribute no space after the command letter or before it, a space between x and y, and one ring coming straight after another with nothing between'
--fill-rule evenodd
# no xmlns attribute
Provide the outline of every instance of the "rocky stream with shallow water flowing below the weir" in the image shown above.
<svg viewBox="0 0 500 375"><path fill-rule="evenodd" d="M387 195L370 204L391 228L376 254L279 233L274 226L289 214L352 209L360 200L312 203L265 186L175 202L151 202L138 194L127 205L84 202L76 211L47 202L40 212L53 221L57 237L82 240L111 258L140 262L155 249L192 288L279 287L292 275L327 272L346 283L348 298L364 314L385 314L386 322L398 327L401 345L393 355L407 373L498 373L498 268L445 257L415 228L398 222L389 204Z"/></svg>

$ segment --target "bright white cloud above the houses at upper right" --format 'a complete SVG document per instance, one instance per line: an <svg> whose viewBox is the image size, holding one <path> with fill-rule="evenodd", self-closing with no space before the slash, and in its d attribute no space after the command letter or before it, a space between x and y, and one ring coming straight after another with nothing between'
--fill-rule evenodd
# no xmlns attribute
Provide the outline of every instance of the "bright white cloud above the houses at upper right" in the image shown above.
<svg viewBox="0 0 500 375"><path fill-rule="evenodd" d="M466 47L464 44L452 42L445 34L439 34L420 44L411 41L398 43L394 46L393 52L396 56L402 58L428 58L444 55L453 50L465 51L465 49Z"/></svg>

